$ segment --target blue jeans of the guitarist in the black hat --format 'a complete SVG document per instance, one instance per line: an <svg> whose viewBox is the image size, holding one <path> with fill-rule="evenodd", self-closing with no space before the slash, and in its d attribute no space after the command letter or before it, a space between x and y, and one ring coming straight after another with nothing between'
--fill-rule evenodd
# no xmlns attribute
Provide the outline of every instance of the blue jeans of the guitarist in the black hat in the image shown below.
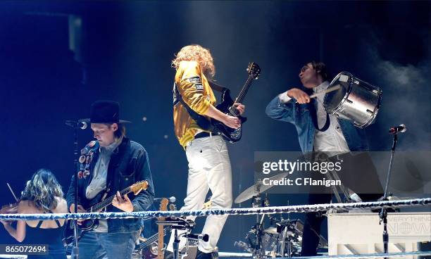
<svg viewBox="0 0 431 259"><path fill-rule="evenodd" d="M85 232L78 242L80 259L132 259L139 231L125 233Z"/></svg>

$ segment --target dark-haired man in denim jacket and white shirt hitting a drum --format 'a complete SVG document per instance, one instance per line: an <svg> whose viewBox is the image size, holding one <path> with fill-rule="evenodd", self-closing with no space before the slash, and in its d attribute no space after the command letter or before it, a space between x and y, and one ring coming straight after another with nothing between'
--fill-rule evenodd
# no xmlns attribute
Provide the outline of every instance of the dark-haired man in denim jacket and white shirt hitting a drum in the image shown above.
<svg viewBox="0 0 431 259"><path fill-rule="evenodd" d="M307 63L301 68L299 79L304 87L292 88L275 96L266 107L266 114L275 120L282 120L295 125L299 145L304 154L325 152L329 159L341 157L350 164L349 168L345 168L346 174L349 175L348 178L356 175L362 179L362 181L356 180L356 182L375 185L372 188L373 193L362 192L361 198L356 196L356 201L361 201L361 199L362 201L377 200L382 196L383 191L368 154L362 153L353 159L350 153L368 151L365 130L354 127L351 120L344 120L328 114L323 105L324 93L327 92L330 85L327 81L326 65L315 61ZM311 95L316 99L313 99ZM361 161L360 164L358 161ZM364 173L367 174L365 178ZM364 179L366 181L363 181ZM349 182L355 183L355 181L345 181L342 177L342 182L354 189L349 185ZM357 192L361 193L360 191ZM349 195L351 194L349 193ZM351 196L350 198L354 197ZM308 196L308 203L328 203L331 199L331 192L312 189ZM301 250L302 256L317 254L318 234L320 234L322 221L323 217L319 216L318 213L307 213Z"/></svg>

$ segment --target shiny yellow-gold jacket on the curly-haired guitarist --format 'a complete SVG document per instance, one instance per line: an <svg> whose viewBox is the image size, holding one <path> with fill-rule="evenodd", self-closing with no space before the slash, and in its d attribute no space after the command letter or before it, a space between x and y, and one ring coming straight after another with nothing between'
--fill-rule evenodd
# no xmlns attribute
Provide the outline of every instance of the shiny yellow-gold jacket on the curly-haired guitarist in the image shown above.
<svg viewBox="0 0 431 259"><path fill-rule="evenodd" d="M175 74L175 84L187 106L196 113L204 115L210 105L215 105L213 90L209 86L201 66L196 61L180 62ZM185 148L187 143L194 139L196 132L202 129L190 117L182 103L177 101L180 96L175 94L175 85L173 94L175 136L180 141L180 145Z"/></svg>

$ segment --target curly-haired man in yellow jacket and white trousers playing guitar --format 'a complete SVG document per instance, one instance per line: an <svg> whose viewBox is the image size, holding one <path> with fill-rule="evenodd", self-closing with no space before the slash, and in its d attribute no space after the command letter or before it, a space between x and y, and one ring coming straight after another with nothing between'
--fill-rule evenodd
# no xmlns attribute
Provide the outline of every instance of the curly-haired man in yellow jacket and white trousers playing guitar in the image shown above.
<svg viewBox="0 0 431 259"><path fill-rule="evenodd" d="M196 115L204 119L213 118L228 127L238 128L238 118L222 113L214 107L215 96L208 84L215 74L213 58L208 49L199 45L183 47L172 62L177 70L174 84L173 119L175 136L185 149L189 162L187 197L182 210L203 208L206 194L211 189L211 208L231 208L232 172L226 142L220 135L213 135L199 127ZM240 114L245 106L235 103ZM191 115L194 113L194 115ZM194 217L189 217L194 220ZM196 258L211 258L227 215L209 215L202 234L208 234L208 241L199 241ZM172 251L173 235L168 251ZM185 240L180 242L180 248Z"/></svg>

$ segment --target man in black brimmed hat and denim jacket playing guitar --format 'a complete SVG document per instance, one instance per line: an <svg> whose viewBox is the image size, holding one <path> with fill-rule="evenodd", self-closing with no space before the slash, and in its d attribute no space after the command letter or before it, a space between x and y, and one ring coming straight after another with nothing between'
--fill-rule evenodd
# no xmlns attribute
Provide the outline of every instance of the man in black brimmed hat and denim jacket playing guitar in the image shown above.
<svg viewBox="0 0 431 259"><path fill-rule="evenodd" d="M75 211L75 181L78 184L78 212L115 195L111 212L147 210L153 203L154 185L145 149L125 137L125 123L119 119L120 106L114 101L92 104L91 123L100 148L91 162L89 175L73 175L67 194L68 208ZM146 180L149 187L137 196L120 196L119 191L135 182ZM80 258L132 258L135 241L142 229L139 219L99 220L96 229L85 232L79 240Z"/></svg>

